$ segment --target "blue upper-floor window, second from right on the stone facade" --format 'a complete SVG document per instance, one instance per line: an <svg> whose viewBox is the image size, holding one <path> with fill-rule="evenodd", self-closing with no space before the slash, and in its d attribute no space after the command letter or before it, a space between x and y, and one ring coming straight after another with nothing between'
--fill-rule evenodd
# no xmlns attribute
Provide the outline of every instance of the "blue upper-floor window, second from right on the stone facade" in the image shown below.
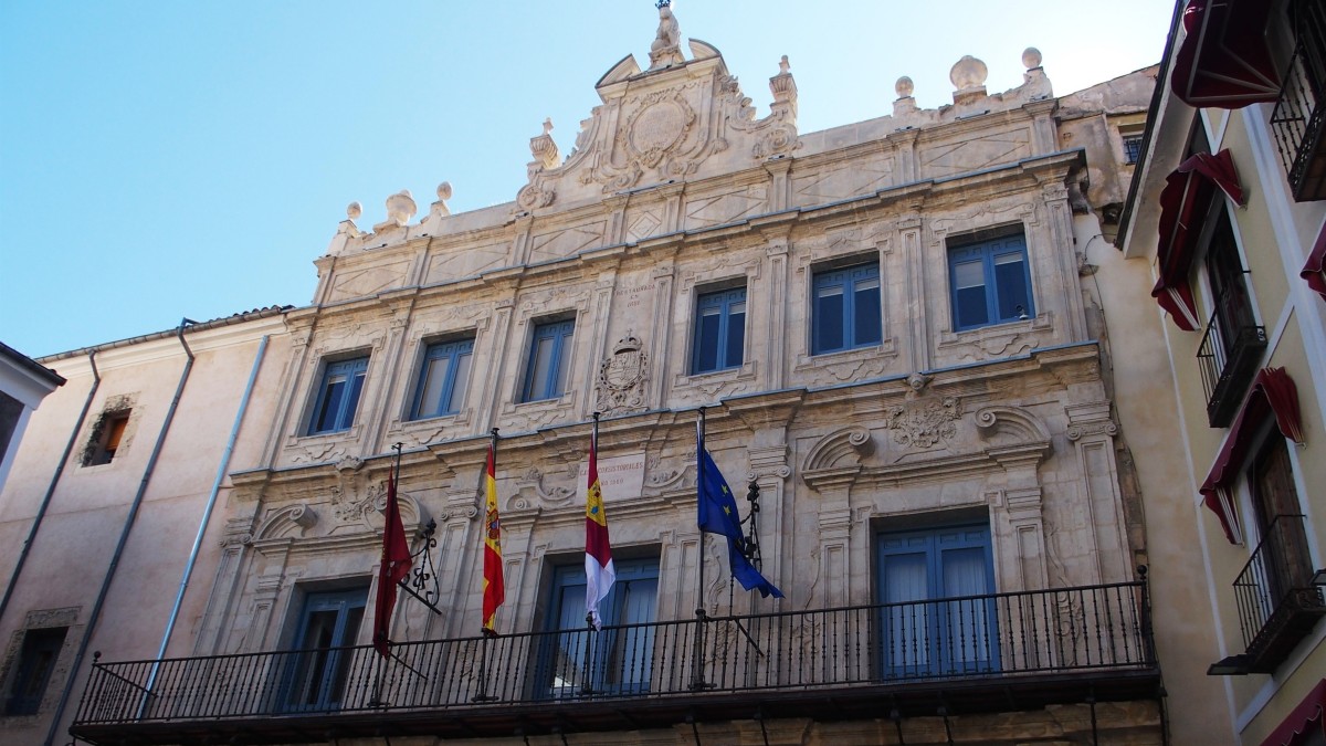
<svg viewBox="0 0 1326 746"><path fill-rule="evenodd" d="M812 354L878 345L883 340L879 265L815 272Z"/></svg>

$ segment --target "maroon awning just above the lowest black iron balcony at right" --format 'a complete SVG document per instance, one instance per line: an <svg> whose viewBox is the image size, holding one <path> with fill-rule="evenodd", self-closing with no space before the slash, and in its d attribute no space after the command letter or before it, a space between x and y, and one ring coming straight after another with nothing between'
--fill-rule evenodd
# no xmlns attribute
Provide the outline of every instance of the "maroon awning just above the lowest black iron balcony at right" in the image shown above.
<svg viewBox="0 0 1326 746"><path fill-rule="evenodd" d="M1264 368L1257 372L1238 417L1229 426L1225 445L1199 490L1203 504L1220 519L1231 544L1242 543L1238 514L1233 503L1235 482L1248 458L1253 438L1269 417L1276 418L1281 435L1296 443L1303 442L1302 421L1298 417L1298 388L1284 368Z"/></svg>

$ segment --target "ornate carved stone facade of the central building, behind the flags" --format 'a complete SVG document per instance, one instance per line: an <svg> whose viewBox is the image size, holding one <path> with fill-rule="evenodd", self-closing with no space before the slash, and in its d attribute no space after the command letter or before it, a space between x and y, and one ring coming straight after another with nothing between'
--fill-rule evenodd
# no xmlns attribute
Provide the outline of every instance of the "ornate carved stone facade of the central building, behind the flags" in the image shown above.
<svg viewBox="0 0 1326 746"><path fill-rule="evenodd" d="M617 623L688 623L700 609L701 621L729 619L713 633L737 640L747 631L732 619L790 615L788 648L748 665L831 688L841 672L802 668L793 649L822 654L835 634L878 645L894 613L879 604L939 615L926 604L977 596L1025 607L1017 621L981 617L979 634L1004 661L987 661L985 674L1067 685L1024 677L1044 684L1030 700L967 710L918 705L930 689L903 686L870 717L678 715L662 730L651 719L586 738L1067 743L1099 731L1162 742L1159 674L1139 621L1150 609L1138 481L1079 243L1101 232L1105 206L1122 202L1123 165L1093 127L1144 110L1152 77L1059 100L1040 53L1022 61L1024 84L1004 93L988 93L985 64L964 57L949 106L918 108L902 78L891 114L804 133L786 57L769 78L769 114L756 117L715 46L692 38L683 52L664 3L648 69L627 56L598 81L602 104L565 158L545 122L513 202L452 214L443 183L415 223L418 206L402 191L371 231L351 203L317 260L313 304L282 315L281 353L265 368L274 384L245 421L248 459L232 465L224 520L213 520L206 608L172 649L202 658L314 645L324 611L338 620L324 642L369 642L363 607L377 589L396 443L400 512L412 547L436 558L420 585L436 609L402 597L391 638L477 640L480 485L493 430L497 631L558 629L568 616L558 593L583 561L585 463L601 413L613 552L639 573L622 577L650 589L636 616ZM707 449L733 490L758 487L751 526L784 599L733 589L720 540L696 526L700 408ZM944 559L953 527L967 564ZM931 548L899 554L892 542ZM937 573L928 588L906 587L918 556ZM1111 593L1131 604L1131 621L1102 619L1099 599ZM1026 611L1033 599L1053 608L1053 623ZM871 611L841 629L814 616L847 607ZM930 621L915 624L903 628L928 634ZM1126 628L1135 657L1114 661L1140 672L1140 689L1070 670L1073 656L1098 654L1085 631L1113 640ZM1036 634L1044 641L1026 642ZM463 665L415 673L431 688L481 676L477 657L457 654ZM873 685L894 676L890 654L902 653L862 664L878 669ZM1115 694L1087 696L1098 684ZM743 697L732 701L756 702ZM335 731L330 717L318 733ZM187 717L175 725L190 727ZM566 733L520 727L530 730L472 738ZM95 727L80 733L95 738Z"/></svg>

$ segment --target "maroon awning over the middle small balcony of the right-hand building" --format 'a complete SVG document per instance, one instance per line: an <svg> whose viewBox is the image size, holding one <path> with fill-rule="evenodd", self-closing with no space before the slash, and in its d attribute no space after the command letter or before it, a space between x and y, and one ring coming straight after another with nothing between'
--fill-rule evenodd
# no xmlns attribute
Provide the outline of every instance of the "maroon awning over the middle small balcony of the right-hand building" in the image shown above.
<svg viewBox="0 0 1326 746"><path fill-rule="evenodd" d="M1151 297L1185 332L1201 328L1197 304L1188 285L1188 271L1216 188L1242 204L1238 173L1228 150L1215 155L1197 153L1188 158L1166 177L1166 187L1160 191L1160 244L1156 250L1160 279L1151 288Z"/></svg>

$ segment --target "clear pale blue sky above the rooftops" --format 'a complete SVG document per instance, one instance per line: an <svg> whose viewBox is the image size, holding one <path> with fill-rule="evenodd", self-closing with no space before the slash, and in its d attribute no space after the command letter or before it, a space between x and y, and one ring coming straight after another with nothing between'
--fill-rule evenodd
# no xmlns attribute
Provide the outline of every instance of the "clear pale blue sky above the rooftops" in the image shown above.
<svg viewBox="0 0 1326 746"><path fill-rule="evenodd" d="M1037 46L1058 96L1159 61L1168 0L676 0L768 113L788 54L801 131L994 93ZM29 356L273 304L306 305L351 200L420 215L509 202L552 117L569 153L650 0L0 0L0 341ZM683 44L683 49L686 49Z"/></svg>

